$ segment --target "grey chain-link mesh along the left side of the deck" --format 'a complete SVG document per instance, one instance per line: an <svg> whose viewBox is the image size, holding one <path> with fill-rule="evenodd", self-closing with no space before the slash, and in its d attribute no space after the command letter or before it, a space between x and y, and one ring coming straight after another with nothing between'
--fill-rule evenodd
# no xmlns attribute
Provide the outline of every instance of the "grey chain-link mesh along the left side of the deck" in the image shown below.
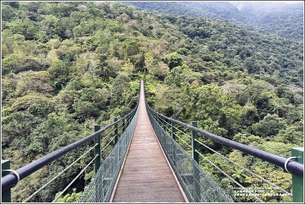
<svg viewBox="0 0 305 204"><path fill-rule="evenodd" d="M139 108L127 129L118 139L113 150L102 162L99 170L85 188L84 193L78 202L109 202L117 177L120 173L127 147L135 129L138 112Z"/></svg>

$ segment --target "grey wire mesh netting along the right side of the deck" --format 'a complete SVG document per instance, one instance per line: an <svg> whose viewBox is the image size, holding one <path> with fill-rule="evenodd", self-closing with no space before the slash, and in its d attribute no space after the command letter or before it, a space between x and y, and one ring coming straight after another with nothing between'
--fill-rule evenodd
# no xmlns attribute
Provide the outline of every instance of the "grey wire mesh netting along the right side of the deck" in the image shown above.
<svg viewBox="0 0 305 204"><path fill-rule="evenodd" d="M199 164L156 122L149 120L189 202L234 202Z"/></svg>

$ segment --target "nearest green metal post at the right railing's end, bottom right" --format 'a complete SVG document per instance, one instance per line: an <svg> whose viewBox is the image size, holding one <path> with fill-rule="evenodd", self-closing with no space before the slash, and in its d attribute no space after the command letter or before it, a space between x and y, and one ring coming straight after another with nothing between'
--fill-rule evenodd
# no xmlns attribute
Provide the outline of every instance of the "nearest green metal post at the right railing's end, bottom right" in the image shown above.
<svg viewBox="0 0 305 204"><path fill-rule="evenodd" d="M304 163L304 147L291 148L291 156L297 156L294 161ZM297 174L292 174L292 194L293 202L304 203L304 177Z"/></svg>

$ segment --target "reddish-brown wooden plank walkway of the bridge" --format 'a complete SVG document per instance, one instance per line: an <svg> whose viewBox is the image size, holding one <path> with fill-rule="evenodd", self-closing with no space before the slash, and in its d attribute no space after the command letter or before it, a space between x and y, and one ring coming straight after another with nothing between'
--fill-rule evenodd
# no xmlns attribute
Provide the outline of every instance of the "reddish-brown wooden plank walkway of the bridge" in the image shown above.
<svg viewBox="0 0 305 204"><path fill-rule="evenodd" d="M110 202L188 202L150 124L141 81L135 131Z"/></svg>

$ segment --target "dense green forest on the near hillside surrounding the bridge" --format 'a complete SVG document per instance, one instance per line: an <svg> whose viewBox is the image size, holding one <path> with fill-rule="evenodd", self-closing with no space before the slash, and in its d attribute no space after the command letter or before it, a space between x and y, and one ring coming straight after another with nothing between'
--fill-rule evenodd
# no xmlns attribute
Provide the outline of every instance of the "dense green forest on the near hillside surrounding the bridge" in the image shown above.
<svg viewBox="0 0 305 204"><path fill-rule="evenodd" d="M228 20L156 14L116 2L1 6L1 157L11 161L11 169L129 112L138 100L139 77L146 80L149 105L166 116L183 107L180 121L198 121L205 131L286 158L291 147L303 147L303 41ZM292 192L291 174L282 168L202 135L199 141ZM22 202L92 145L20 181L12 188L12 202ZM245 187L269 186L207 149L200 152ZM92 157L85 156L31 202L51 202ZM233 182L206 161L200 165L235 202L255 202L235 197ZM75 202L93 169L58 202ZM289 196L260 199L292 202Z"/></svg>

